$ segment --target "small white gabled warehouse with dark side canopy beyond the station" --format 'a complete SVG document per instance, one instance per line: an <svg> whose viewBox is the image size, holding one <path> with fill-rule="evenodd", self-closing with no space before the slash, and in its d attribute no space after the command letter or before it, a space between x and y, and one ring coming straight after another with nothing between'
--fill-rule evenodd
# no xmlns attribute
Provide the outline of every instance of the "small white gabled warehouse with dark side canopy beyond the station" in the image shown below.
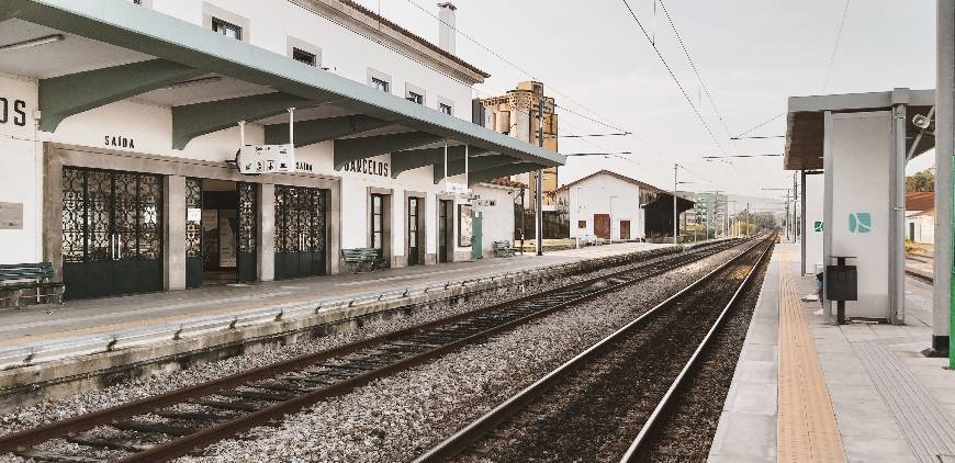
<svg viewBox="0 0 955 463"><path fill-rule="evenodd" d="M673 237L673 194L629 177L600 170L557 191L565 207L571 238L651 240ZM677 197L677 214L693 201Z"/></svg>

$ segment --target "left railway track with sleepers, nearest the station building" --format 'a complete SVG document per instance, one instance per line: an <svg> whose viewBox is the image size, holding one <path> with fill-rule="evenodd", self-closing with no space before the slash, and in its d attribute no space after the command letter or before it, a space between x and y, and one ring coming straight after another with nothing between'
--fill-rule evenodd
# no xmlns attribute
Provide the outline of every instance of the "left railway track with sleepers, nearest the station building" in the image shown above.
<svg viewBox="0 0 955 463"><path fill-rule="evenodd" d="M723 242L336 349L0 437L48 462L169 461L571 305L712 256Z"/></svg>

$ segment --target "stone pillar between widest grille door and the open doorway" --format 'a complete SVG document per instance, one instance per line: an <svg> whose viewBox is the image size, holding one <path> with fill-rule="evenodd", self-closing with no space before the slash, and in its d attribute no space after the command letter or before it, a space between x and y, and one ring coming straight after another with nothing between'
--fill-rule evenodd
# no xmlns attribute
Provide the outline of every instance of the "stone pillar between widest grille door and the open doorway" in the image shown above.
<svg viewBox="0 0 955 463"><path fill-rule="evenodd" d="M166 176L162 185L162 287L186 289L186 177Z"/></svg>

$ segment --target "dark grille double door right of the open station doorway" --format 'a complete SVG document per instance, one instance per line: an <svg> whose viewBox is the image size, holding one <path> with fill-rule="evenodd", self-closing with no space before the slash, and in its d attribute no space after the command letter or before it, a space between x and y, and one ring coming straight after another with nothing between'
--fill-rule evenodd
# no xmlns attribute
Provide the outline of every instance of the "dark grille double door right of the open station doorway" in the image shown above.
<svg viewBox="0 0 955 463"><path fill-rule="evenodd" d="M276 279L325 274L325 190L276 185Z"/></svg>

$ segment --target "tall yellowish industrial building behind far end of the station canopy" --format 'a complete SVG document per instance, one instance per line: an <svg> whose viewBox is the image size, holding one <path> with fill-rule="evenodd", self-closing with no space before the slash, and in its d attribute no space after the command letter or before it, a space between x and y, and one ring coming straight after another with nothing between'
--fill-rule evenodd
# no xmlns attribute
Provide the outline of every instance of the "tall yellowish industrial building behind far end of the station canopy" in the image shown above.
<svg viewBox="0 0 955 463"><path fill-rule="evenodd" d="M554 99L544 97L543 83L527 81L517 84L517 89L508 91L501 97L492 97L479 100L484 106L484 123L502 134L527 142L531 145L540 145L540 101L543 99L543 148L551 151L558 150L558 115L554 112ZM529 185L525 205L532 208L536 197L536 172L512 176L510 180ZM544 169L541 178L543 188L543 208L553 211L557 206L555 192L558 189L558 169Z"/></svg>

